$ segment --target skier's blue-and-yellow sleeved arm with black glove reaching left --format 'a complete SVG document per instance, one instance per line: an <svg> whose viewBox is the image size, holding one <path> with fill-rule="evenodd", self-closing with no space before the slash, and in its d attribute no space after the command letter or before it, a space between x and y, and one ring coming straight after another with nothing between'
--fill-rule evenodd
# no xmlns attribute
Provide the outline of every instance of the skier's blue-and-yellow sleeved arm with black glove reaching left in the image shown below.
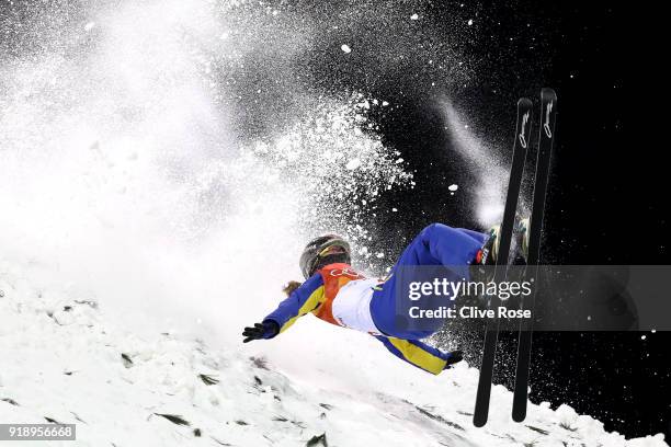
<svg viewBox="0 0 671 447"><path fill-rule="evenodd" d="M323 302L323 279L320 274L315 274L292 291L277 309L263 319L263 322L255 323L253 328L244 328L243 342L274 337L286 331L299 317L315 310L321 302Z"/></svg>

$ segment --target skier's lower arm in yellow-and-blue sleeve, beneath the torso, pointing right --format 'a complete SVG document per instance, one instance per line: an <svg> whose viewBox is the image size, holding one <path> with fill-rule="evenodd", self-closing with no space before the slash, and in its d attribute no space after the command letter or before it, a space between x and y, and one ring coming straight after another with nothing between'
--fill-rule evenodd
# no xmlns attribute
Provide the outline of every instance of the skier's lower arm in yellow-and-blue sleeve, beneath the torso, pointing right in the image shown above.
<svg viewBox="0 0 671 447"><path fill-rule="evenodd" d="M439 375L450 365L462 360L462 352L443 353L417 340L402 340L393 336L375 336L398 358L428 373Z"/></svg>

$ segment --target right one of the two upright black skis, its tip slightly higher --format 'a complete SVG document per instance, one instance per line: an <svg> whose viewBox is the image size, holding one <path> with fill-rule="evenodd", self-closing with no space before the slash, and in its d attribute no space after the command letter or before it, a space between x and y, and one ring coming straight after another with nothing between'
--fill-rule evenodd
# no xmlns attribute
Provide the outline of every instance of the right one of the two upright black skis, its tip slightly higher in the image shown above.
<svg viewBox="0 0 671 447"><path fill-rule="evenodd" d="M555 140L555 122L557 116L557 94L553 89L541 91L541 129L538 136L538 152L536 156L536 175L534 179L534 194L532 215L528 229L528 254L526 257L527 271L533 270L531 278L538 276L538 261L541 256L541 234L543 232L543 216L545 214L545 195L549 177L550 157ZM528 279L530 277L527 277ZM521 302L523 309L530 309L533 314L535 295L537 290ZM513 391L512 419L522 422L526 417L526 402L528 389L528 369L531 364L533 319L520 320L518 336L518 364L515 366L515 387Z"/></svg>

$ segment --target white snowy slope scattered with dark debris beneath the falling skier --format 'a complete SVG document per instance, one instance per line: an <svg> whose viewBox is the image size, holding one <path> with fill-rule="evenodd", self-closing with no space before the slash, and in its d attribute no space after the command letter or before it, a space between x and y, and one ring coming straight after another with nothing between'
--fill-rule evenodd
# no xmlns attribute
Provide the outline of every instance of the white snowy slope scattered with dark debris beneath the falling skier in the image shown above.
<svg viewBox="0 0 671 447"><path fill-rule="evenodd" d="M158 330L140 337L93 297L72 296L65 286L35 287L15 265L0 263L0 421L77 424L77 443L39 445L668 445L662 435L625 440L566 405L530 405L527 421L515 424L511 394L498 386L491 421L477 429L469 414L477 370L467 365L432 377L396 359L387 363L384 349L359 343L379 368L376 380L365 381L366 391L363 378L351 387L334 379L356 375L346 362L340 371L315 364L295 368L302 375L278 370L272 356L250 358L241 344L212 348L207 340ZM355 340L337 332L345 333L345 343ZM362 377L371 374L367 360Z"/></svg>

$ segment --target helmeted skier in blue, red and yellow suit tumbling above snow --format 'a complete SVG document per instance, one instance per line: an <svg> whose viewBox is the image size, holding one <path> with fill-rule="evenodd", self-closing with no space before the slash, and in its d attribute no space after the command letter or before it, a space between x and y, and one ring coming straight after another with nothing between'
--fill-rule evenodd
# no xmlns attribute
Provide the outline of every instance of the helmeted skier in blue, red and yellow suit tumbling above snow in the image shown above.
<svg viewBox="0 0 671 447"><path fill-rule="evenodd" d="M397 324L396 270L405 266L492 264L499 226L489 233L433 224L406 248L385 280L365 278L351 264L350 244L337 234L311 240L300 255L306 282L291 282L287 298L261 323L244 328L243 343L272 339L311 312L329 323L366 332L397 357L434 375L460 362L460 351L442 352L420 342L435 330L411 331Z"/></svg>

